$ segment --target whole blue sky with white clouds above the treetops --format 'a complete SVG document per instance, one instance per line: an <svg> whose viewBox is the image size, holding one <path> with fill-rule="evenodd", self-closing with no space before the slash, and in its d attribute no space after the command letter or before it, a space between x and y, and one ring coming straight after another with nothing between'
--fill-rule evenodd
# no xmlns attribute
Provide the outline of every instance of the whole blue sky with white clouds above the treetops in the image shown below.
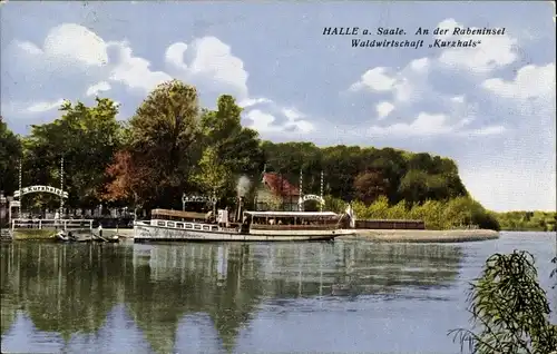
<svg viewBox="0 0 557 354"><path fill-rule="evenodd" d="M203 107L233 95L243 124L264 139L447 156L489 209L556 209L549 1L7 1L0 11L1 114L18 134L59 117L65 99L109 97L128 119L156 85L176 78L197 87ZM430 47L436 40L480 43Z"/></svg>

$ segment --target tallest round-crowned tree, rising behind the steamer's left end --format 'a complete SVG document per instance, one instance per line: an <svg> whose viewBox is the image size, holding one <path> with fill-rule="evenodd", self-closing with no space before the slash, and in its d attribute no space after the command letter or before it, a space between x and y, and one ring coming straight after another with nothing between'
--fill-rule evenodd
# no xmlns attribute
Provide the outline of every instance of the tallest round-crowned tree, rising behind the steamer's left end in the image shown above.
<svg viewBox="0 0 557 354"><path fill-rule="evenodd" d="M140 196L148 207L179 204L176 196L188 187L192 166L198 159L195 146L199 137L198 112L196 88L172 80L157 86L130 119L126 150L133 161L130 166L140 166L143 174L149 176L139 188L149 190ZM118 180L118 168L114 173L113 178ZM137 188L128 185L124 189Z"/></svg>

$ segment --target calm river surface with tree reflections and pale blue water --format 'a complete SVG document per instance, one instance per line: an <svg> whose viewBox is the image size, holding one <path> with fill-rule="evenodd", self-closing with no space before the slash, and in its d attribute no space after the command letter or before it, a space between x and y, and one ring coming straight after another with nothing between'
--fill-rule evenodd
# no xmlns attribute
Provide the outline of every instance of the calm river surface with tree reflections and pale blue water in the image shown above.
<svg viewBox="0 0 557 354"><path fill-rule="evenodd" d="M458 353L467 282L554 234L466 244L1 245L2 353ZM553 321L556 322L554 314Z"/></svg>

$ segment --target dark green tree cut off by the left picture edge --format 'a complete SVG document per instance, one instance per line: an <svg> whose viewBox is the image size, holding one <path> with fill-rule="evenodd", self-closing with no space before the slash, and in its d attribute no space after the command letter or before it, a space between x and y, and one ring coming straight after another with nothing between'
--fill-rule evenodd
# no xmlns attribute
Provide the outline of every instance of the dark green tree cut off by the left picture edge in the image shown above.
<svg viewBox="0 0 557 354"><path fill-rule="evenodd" d="M0 116L1 118L1 116ZM0 120L0 190L11 195L18 189L18 159L21 157L21 141Z"/></svg>

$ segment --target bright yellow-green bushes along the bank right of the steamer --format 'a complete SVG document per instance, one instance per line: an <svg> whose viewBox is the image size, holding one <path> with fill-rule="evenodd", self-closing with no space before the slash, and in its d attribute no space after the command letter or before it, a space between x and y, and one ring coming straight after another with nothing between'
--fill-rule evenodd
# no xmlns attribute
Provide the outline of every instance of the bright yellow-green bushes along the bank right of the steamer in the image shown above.
<svg viewBox="0 0 557 354"><path fill-rule="evenodd" d="M409 208L404 201L391 206L385 196L380 196L369 206L356 201L353 208L359 219L423 220L428 229L479 227L499 230L497 219L491 213L470 197L427 200Z"/></svg>

